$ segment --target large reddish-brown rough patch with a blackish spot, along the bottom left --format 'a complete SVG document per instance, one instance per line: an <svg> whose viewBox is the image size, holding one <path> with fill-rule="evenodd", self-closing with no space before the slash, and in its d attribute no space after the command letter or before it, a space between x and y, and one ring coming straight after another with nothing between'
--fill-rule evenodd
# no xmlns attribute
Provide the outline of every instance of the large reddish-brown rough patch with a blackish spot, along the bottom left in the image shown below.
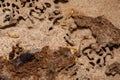
<svg viewBox="0 0 120 80"><path fill-rule="evenodd" d="M74 55L72 55L69 48L60 47L59 50L52 51L46 46L37 53L18 54L19 56L9 61L5 62L2 58L0 60L0 69L5 71L4 67L7 68L6 70L11 77L6 77L10 80L27 79L30 76L37 78L34 80L43 77L46 80L55 80L55 76L59 72L75 64Z"/></svg>

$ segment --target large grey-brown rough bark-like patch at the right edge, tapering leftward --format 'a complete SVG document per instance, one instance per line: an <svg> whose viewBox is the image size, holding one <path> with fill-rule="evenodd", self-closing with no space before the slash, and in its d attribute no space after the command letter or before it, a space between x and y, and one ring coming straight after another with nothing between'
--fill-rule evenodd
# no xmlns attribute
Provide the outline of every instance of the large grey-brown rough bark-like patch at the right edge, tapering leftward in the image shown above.
<svg viewBox="0 0 120 80"><path fill-rule="evenodd" d="M96 43L90 44L88 48L95 48L96 51L100 53L100 48L105 50L105 47L109 47L112 51L113 48L120 47L120 29L116 28L104 16L92 18L88 16L80 16L79 14L73 14L72 17L77 24L78 29L90 29L92 36L96 39Z"/></svg>

